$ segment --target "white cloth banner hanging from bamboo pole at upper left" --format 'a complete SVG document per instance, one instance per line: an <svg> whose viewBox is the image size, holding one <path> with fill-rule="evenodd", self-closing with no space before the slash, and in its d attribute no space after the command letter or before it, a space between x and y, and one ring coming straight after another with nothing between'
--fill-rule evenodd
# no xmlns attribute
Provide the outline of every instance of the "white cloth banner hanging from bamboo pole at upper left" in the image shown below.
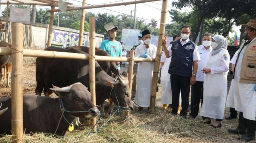
<svg viewBox="0 0 256 143"><path fill-rule="evenodd" d="M10 18L11 22L30 22L30 6L25 9L20 9L15 6L10 6Z"/></svg>

